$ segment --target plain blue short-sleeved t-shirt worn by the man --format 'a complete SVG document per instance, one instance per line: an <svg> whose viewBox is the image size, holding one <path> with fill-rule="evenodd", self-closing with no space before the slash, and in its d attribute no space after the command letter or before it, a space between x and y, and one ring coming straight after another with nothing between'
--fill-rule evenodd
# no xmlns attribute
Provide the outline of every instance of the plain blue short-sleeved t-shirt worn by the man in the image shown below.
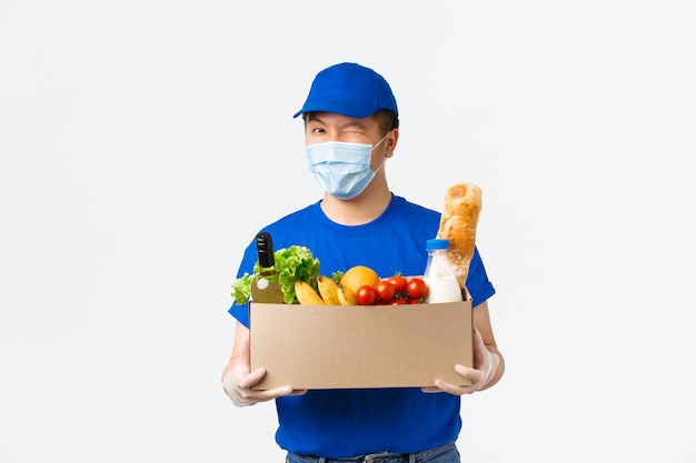
<svg viewBox="0 0 696 463"><path fill-rule="evenodd" d="M380 276L396 272L420 275L427 262L426 241L435 238L439 221L439 212L392 195L387 210L362 225L346 227L330 221L317 202L264 231L271 234L276 250L294 244L309 248L319 259L320 273L326 275L354 265L367 265ZM252 240L238 276L251 273L256 261ZM474 306L495 293L478 249L469 266L467 290ZM249 326L247 304L232 304L229 313ZM302 455L415 453L455 440L461 429L459 396L424 393L417 387L316 390L279 397L276 406L279 421L276 442L281 449Z"/></svg>

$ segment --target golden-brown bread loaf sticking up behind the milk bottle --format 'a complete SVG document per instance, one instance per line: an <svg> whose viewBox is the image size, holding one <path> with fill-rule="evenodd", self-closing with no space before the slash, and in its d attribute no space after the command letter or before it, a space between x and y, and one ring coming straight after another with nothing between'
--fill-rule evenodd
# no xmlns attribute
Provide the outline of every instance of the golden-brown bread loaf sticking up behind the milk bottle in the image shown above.
<svg viewBox="0 0 696 463"><path fill-rule="evenodd" d="M445 193L445 208L437 238L449 240L449 261L461 290L466 290L481 212L481 190L473 183L453 183Z"/></svg>

